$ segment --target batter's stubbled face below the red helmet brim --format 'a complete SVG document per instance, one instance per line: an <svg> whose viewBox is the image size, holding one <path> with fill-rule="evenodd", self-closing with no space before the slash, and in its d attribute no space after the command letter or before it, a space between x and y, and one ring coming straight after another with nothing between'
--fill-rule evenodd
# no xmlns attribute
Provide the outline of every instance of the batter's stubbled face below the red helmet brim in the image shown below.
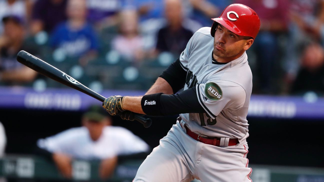
<svg viewBox="0 0 324 182"><path fill-rule="evenodd" d="M237 59L252 45L253 39L236 35L222 25L218 25L214 37L214 55L224 61Z"/></svg>

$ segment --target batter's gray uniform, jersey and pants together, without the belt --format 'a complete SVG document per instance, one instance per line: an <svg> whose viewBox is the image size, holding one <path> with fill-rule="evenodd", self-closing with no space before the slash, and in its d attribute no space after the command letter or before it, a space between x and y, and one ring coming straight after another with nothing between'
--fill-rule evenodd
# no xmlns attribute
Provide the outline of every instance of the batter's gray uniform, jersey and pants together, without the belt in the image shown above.
<svg viewBox="0 0 324 182"><path fill-rule="evenodd" d="M252 91L247 54L226 64L213 63L214 38L210 30L199 29L179 58L187 71L184 89L196 87L206 112L180 114L168 135L140 166L134 182L186 182L193 178L202 182L252 181L246 158L246 116ZM220 138L221 146L192 139L184 125L197 134ZM239 143L228 146L233 138Z"/></svg>

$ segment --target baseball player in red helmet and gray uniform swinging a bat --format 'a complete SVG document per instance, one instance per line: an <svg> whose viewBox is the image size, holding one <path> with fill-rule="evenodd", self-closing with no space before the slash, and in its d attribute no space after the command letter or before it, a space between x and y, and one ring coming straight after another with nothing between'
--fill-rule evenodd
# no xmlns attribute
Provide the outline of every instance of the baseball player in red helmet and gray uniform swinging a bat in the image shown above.
<svg viewBox="0 0 324 182"><path fill-rule="evenodd" d="M252 181L246 158L252 91L246 50L259 32L260 19L248 6L232 4L213 20L211 28L191 37L144 96L111 96L103 103L111 115L129 120L133 112L180 114L134 182Z"/></svg>

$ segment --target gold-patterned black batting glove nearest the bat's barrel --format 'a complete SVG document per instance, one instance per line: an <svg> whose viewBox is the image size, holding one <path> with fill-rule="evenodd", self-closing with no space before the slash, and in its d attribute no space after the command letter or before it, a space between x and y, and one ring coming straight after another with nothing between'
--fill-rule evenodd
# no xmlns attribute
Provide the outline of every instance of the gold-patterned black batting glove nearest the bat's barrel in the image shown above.
<svg viewBox="0 0 324 182"><path fill-rule="evenodd" d="M102 107L112 116L120 115L125 111L122 108L122 99L123 96L110 96L102 103Z"/></svg>

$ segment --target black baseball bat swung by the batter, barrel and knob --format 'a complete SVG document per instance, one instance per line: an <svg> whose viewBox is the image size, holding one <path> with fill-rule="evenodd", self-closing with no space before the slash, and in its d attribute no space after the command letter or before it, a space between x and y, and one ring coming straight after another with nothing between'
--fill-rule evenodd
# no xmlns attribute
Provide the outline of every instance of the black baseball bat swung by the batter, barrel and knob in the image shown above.
<svg viewBox="0 0 324 182"><path fill-rule="evenodd" d="M26 65L27 67L55 80L66 86L74 88L78 91L81 91L101 102L104 102L105 97L89 89L85 85L82 85L80 82L72 78L71 76L65 74L61 70L55 68L54 66L42 61L41 59L29 54L26 51L19 51L17 54L17 61ZM138 114L135 114L135 120L139 121L144 125L145 128L148 128L152 124L150 118L144 118Z"/></svg>

